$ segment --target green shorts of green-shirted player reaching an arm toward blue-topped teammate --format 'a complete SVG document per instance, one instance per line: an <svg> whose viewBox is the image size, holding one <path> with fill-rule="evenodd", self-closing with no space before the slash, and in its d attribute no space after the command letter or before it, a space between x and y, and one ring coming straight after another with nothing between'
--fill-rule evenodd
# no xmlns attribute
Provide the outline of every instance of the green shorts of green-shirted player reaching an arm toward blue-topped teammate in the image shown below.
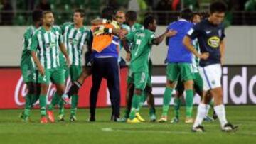
<svg viewBox="0 0 256 144"><path fill-rule="evenodd" d="M132 77L134 77L135 89L141 89L143 91L146 87L146 81L149 77L149 73L148 72L134 72L132 74Z"/></svg>

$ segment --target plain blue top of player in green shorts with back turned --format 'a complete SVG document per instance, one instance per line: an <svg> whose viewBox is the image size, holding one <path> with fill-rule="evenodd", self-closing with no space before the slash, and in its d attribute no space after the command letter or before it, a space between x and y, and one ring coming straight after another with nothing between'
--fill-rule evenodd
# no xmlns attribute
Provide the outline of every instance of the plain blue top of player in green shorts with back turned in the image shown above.
<svg viewBox="0 0 256 144"><path fill-rule="evenodd" d="M186 49L185 45L183 45L183 38L192 27L193 23L184 19L179 19L168 26L168 30L177 31L176 35L169 38L168 41L168 63L192 62L192 53Z"/></svg>

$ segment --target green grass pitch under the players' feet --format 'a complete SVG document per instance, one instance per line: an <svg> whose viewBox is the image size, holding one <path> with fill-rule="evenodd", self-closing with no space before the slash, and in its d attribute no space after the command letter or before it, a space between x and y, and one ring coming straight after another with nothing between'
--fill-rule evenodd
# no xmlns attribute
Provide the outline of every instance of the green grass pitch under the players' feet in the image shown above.
<svg viewBox="0 0 256 144"><path fill-rule="evenodd" d="M171 110L173 107L171 106ZM70 123L39 123L39 111L33 110L32 122L23 123L18 118L21 110L0 110L0 143L256 143L256 106L227 106L228 119L239 126L235 133L220 131L219 122L203 123L206 133L191 133L191 124L184 123L184 108L181 121L171 123L113 123L110 109L97 109L97 122L87 122L88 109L78 109L79 121ZM122 112L124 109L122 109ZM57 112L55 111L57 116ZM157 108L160 116L161 107ZM69 110L66 111L67 120ZM148 119L148 109L142 109L142 116ZM210 112L211 113L211 112ZM169 115L173 112L170 111ZM196 115L196 106L194 108ZM171 116L169 116L171 119Z"/></svg>

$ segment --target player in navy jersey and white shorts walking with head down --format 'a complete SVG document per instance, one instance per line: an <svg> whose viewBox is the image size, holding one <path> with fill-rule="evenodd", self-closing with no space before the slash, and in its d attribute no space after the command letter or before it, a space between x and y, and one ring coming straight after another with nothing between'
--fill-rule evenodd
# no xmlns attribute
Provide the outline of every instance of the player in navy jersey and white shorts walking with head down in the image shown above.
<svg viewBox="0 0 256 144"><path fill-rule="evenodd" d="M213 2L210 4L210 16L205 20L193 26L183 39L186 48L193 52L196 57L201 58L199 72L203 78L203 99L198 106L196 121L193 124L192 131L205 131L201 126L206 108L210 99L206 97L206 91L210 90L214 99L214 110L217 114L222 131L235 131L238 126L228 123L225 116L225 106L223 105L223 91L221 88L221 64L223 64L225 50L225 32L223 19L227 7L222 2ZM191 45L191 40L198 38L201 53Z"/></svg>

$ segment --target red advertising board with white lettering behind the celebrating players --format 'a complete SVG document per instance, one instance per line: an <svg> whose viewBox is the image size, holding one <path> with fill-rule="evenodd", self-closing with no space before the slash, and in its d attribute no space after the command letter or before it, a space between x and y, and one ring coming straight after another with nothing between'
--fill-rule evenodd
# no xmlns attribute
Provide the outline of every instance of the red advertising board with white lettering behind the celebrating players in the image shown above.
<svg viewBox="0 0 256 144"><path fill-rule="evenodd" d="M121 96L124 97L126 93L126 76L127 69L120 70L120 89ZM67 81L70 87L70 80ZM90 88L92 87L92 78L88 77L79 92L79 102L78 107L88 107ZM53 94L56 89L54 84L50 84L48 89L48 104L50 103ZM0 69L0 109L17 109L23 108L24 106L24 96L26 96L27 89L26 84L23 83L21 77L21 70L18 68L1 68ZM98 94L98 107L105 107L110 105L109 93L107 90L107 82L105 79L102 80L100 91ZM121 105L125 105L125 99L121 98Z"/></svg>

